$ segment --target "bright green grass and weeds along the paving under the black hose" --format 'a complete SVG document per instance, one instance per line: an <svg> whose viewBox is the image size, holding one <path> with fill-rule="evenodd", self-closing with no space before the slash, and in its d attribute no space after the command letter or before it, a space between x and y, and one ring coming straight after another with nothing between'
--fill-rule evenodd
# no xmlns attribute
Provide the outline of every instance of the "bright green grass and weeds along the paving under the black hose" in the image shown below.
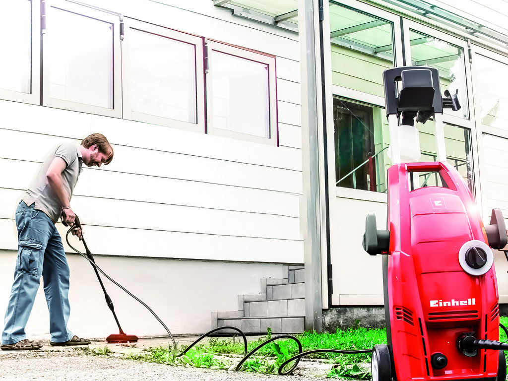
<svg viewBox="0 0 508 381"><path fill-rule="evenodd" d="M508 327L508 316L502 316L501 324ZM375 344L387 342L385 329L368 329L359 327L340 330L335 333L303 333L295 335L302 343L303 352L320 348L332 348L340 350L360 350L372 348ZM247 351L272 337L270 331L267 336L255 341L250 341L247 345ZM499 332L499 340L506 342L508 338L502 329ZM88 351L86 351L86 349ZM185 346L178 348L183 351ZM184 356L173 359L172 347L149 348L142 354L127 354L124 359L156 362L167 365L210 368L210 369L228 369L236 364L238 359L229 359L221 355L242 355L243 340L239 337L234 338L211 338L208 342L199 343L188 351ZM110 351L105 348L89 350L85 352L91 355L108 355ZM298 345L291 339L280 339L271 342L261 348L255 355L245 361L242 370L247 372L259 372L267 374L277 374L278 367L285 360L298 353ZM332 369L327 374L329 378L347 378L365 380L370 379L370 354L335 354L318 353L309 355L308 358L324 359L329 362Z"/></svg>

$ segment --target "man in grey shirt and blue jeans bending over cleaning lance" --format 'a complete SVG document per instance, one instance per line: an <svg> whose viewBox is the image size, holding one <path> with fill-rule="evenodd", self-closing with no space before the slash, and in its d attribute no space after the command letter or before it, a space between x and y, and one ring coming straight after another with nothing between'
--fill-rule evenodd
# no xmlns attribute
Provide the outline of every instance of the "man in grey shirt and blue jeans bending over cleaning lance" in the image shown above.
<svg viewBox="0 0 508 381"><path fill-rule="evenodd" d="M79 147L63 143L50 152L16 209L18 257L11 297L2 333L4 351L37 350L38 341L26 338L25 326L34 305L39 280L49 309L51 345L87 345L88 339L74 336L67 328L70 315L69 265L55 223L74 225L76 214L71 197L84 163L88 167L107 165L113 148L104 135L87 136ZM83 232L72 231L79 239Z"/></svg>

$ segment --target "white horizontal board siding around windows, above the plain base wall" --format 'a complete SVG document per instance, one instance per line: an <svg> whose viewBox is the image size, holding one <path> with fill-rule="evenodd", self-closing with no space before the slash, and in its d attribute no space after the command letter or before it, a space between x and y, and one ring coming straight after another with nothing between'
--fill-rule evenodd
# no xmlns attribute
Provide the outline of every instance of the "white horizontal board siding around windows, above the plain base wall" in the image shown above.
<svg viewBox="0 0 508 381"><path fill-rule="evenodd" d="M279 146L0 100L0 249L16 249L16 202L44 155L100 132L114 160L84 168L71 203L93 252L303 262L298 35L232 17L205 0L88 3L274 55Z"/></svg>

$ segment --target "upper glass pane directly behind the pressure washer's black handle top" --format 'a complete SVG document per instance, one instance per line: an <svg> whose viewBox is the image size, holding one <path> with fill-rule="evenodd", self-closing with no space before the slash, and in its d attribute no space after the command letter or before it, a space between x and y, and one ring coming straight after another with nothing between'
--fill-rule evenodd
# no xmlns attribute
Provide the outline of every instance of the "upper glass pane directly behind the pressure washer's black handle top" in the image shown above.
<svg viewBox="0 0 508 381"><path fill-rule="evenodd" d="M439 70L441 96L446 89L450 90L451 93L458 90L457 96L462 106L461 109L459 111L445 109L444 113L469 118L464 50L462 47L412 29L409 29L409 44L412 66L427 66Z"/></svg>

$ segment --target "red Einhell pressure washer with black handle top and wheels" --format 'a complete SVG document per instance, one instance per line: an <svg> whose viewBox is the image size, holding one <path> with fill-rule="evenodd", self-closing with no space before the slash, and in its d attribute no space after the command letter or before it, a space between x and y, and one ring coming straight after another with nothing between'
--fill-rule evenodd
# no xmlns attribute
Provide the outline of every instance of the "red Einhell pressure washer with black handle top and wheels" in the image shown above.
<svg viewBox="0 0 508 381"><path fill-rule="evenodd" d="M389 69L383 79L392 160L387 229L369 214L363 246L383 255L388 344L372 350L372 380L504 381L508 344L498 341L492 249L506 245L506 227L498 209L483 225L461 174L446 162L442 114L460 108L457 93L441 98L433 68ZM414 120L431 117L437 161L418 163Z"/></svg>

